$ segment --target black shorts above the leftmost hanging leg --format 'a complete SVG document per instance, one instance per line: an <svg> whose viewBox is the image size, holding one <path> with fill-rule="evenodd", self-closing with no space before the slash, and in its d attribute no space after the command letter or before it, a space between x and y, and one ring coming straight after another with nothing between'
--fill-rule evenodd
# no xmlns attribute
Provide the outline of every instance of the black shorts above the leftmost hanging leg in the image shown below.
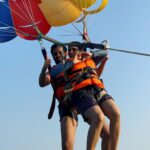
<svg viewBox="0 0 150 150"><path fill-rule="evenodd" d="M60 121L65 116L74 118L76 121L78 121L78 117L76 115L74 115L73 111L71 111L71 108L69 106L66 106L65 104L59 103L58 110L59 110Z"/></svg>

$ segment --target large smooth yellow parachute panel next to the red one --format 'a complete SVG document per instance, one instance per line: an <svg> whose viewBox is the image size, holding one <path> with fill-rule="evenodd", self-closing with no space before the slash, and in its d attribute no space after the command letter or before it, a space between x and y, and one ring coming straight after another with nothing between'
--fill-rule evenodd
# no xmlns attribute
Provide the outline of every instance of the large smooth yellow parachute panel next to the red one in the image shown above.
<svg viewBox="0 0 150 150"><path fill-rule="evenodd" d="M70 0L43 0L39 7L51 26L73 22L82 12Z"/></svg>

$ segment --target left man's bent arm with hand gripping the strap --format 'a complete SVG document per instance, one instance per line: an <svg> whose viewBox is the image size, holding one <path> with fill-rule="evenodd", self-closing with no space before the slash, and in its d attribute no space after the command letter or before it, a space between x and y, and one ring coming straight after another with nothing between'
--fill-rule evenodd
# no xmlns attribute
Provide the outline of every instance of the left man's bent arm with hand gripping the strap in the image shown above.
<svg viewBox="0 0 150 150"><path fill-rule="evenodd" d="M42 67L40 76L39 76L40 87L44 87L44 86L50 84L51 77L50 77L49 72L46 72L49 65L50 65L50 59L46 59L44 65Z"/></svg>

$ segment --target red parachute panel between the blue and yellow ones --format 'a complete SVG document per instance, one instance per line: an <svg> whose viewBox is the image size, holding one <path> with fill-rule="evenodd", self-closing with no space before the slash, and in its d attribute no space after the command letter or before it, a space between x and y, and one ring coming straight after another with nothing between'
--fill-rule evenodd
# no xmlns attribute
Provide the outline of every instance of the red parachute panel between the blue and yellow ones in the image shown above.
<svg viewBox="0 0 150 150"><path fill-rule="evenodd" d="M14 27L18 36L27 40L36 39L34 37L28 36L38 36L38 33L34 29L33 24L35 24L43 34L46 34L50 30L50 25L39 9L38 5L40 3L41 0L9 1ZM26 35L20 33L20 31Z"/></svg>

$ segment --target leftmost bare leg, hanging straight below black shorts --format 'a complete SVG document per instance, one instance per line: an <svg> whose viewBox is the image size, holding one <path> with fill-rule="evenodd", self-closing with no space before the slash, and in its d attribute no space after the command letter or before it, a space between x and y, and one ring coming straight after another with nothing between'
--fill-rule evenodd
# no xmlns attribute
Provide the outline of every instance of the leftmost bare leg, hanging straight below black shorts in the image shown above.
<svg viewBox="0 0 150 150"><path fill-rule="evenodd" d="M61 120L62 150L73 150L77 121L64 116Z"/></svg>

